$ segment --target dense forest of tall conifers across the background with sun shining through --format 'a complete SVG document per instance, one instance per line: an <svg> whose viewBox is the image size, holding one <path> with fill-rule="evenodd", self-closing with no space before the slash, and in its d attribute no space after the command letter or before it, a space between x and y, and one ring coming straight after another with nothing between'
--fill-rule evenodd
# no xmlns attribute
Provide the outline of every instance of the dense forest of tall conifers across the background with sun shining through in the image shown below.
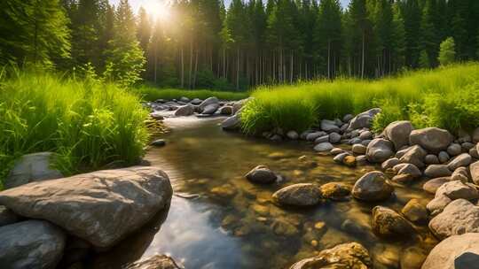
<svg viewBox="0 0 479 269"><path fill-rule="evenodd" d="M7 0L0 33L0 65L239 90L436 67L441 48L446 62L478 59L479 2Z"/></svg>

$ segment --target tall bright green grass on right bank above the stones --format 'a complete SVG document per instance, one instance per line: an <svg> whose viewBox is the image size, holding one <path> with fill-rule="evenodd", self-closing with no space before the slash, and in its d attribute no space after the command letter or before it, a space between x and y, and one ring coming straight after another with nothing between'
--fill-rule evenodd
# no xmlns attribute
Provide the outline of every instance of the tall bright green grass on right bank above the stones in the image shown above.
<svg viewBox="0 0 479 269"><path fill-rule="evenodd" d="M404 73L380 81L315 81L293 86L262 87L252 93L241 118L247 133L283 127L302 131L318 119L342 118L381 107L373 128L410 119L415 127L452 131L479 126L479 64L452 65Z"/></svg>

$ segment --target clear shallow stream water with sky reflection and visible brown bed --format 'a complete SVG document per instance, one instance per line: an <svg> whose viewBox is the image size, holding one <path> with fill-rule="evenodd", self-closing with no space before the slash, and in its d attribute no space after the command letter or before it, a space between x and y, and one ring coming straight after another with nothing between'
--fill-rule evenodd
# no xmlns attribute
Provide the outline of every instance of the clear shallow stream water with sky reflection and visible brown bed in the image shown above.
<svg viewBox="0 0 479 269"><path fill-rule="evenodd" d="M273 204L271 194L288 184L342 181L352 186L374 167L337 165L306 142L275 143L227 133L218 127L221 121L165 120L172 129L162 137L167 146L149 150L145 159L169 174L176 193L169 211L96 257L95 268L121 268L157 253L167 253L189 269L288 268L319 250L352 241L370 251L374 268L400 268L401 259L404 268L404 261L419 259L436 244L425 226L416 227L411 238L377 238L370 227L377 204L354 199L309 209ZM301 156L306 160L300 161ZM244 174L256 165L270 166L284 181L269 186L248 182ZM381 204L400 211L411 198L427 203L432 197L420 186L396 186L395 196ZM356 228L344 227L345 220Z"/></svg>

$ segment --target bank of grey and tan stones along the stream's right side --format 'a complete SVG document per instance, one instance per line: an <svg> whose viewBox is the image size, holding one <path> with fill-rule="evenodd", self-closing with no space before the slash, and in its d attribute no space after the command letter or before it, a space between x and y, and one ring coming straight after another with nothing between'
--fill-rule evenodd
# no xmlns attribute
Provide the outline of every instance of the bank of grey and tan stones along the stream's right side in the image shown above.
<svg viewBox="0 0 479 269"><path fill-rule="evenodd" d="M295 130L275 128L263 132L262 136L275 142L310 142L313 150L319 154L330 154L335 162L342 165L381 165L383 172L365 173L350 189L354 198L365 203L388 199L394 195L395 185L404 186L420 178L428 178L423 189L434 194L434 199L426 206L412 199L400 212L382 206L374 207L371 217L374 233L381 237L412 236L414 226L428 224L439 240L451 238L457 249L451 257L452 254L445 250L449 241L440 242L421 268L454 268L454 265L455 268L474 268L479 261L479 244L469 242L466 235L460 234L474 237L475 233L479 233L479 127L471 133L459 130L459 135L454 137L449 131L437 127L414 129L411 122L404 120L390 123L381 134L373 134L371 124L379 113L381 109L373 108L356 116L349 114L342 119L322 119L318 127L301 134ZM238 130L240 112L225 119L222 127ZM271 175L266 175L273 173L262 172L264 169L256 167L248 175L261 174L253 181L264 183L264 179L271 178ZM273 198L279 204L310 206L318 204L321 197L330 196L329 192L324 192L325 188L332 188L333 193L349 193L348 189L342 190L339 186L295 184L280 189ZM469 250L475 254L469 253ZM319 254L292 268L310 268L310 260L315 259L325 260ZM342 264L341 258L339 260L338 265ZM326 265L330 263L318 263L318 268Z"/></svg>

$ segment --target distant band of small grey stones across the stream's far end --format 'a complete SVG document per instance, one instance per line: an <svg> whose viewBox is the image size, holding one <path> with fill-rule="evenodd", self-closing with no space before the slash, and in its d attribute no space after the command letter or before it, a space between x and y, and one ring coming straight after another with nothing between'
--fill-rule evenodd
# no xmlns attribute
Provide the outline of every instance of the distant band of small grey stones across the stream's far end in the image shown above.
<svg viewBox="0 0 479 269"><path fill-rule="evenodd" d="M175 117L196 115L203 118L214 115L232 116L240 109L239 106L242 106L242 102L221 101L215 96L208 97L205 100L199 98L190 100L187 97L181 97L179 100L173 99L170 101L158 99L146 103L145 106L152 109L150 115L153 119L162 119L165 115L168 115L166 113L168 111L171 111Z"/></svg>

